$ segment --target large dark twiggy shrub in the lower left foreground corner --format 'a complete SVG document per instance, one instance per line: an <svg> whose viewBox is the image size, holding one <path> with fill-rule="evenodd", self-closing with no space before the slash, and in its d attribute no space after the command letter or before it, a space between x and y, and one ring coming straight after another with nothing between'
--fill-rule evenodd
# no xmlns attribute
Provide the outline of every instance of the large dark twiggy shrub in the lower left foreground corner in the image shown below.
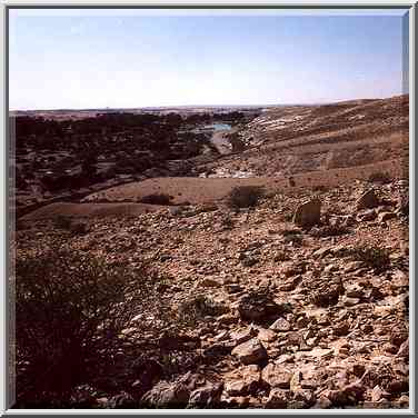
<svg viewBox="0 0 418 418"><path fill-rule="evenodd" d="M147 292L146 286L139 286L147 280L145 267L110 268L58 245L43 253L19 253L14 280L18 402L68 398L115 346L136 314L131 309ZM129 305L123 303L128 295Z"/></svg>

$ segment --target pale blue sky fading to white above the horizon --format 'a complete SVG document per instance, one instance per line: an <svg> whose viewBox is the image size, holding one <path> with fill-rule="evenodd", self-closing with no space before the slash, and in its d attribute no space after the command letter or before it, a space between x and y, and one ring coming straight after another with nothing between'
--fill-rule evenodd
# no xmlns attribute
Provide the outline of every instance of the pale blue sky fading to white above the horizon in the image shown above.
<svg viewBox="0 0 418 418"><path fill-rule="evenodd" d="M400 94L402 14L11 10L10 109Z"/></svg>

